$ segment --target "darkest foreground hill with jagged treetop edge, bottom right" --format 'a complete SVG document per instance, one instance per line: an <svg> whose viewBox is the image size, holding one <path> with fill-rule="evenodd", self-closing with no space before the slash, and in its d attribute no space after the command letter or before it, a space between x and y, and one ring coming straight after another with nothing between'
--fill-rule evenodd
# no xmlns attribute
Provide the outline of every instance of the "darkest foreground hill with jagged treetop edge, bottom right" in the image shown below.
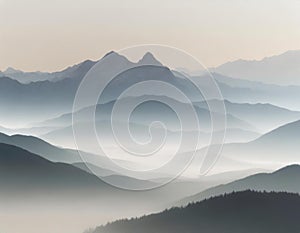
<svg viewBox="0 0 300 233"><path fill-rule="evenodd" d="M94 233L298 233L300 197L290 193L244 191L185 208L115 221Z"/></svg>

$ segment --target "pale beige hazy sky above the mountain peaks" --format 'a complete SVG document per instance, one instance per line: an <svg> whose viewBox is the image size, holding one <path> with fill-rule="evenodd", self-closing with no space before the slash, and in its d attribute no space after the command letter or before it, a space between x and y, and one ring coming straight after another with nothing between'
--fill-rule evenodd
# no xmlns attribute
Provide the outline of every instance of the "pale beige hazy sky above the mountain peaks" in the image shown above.
<svg viewBox="0 0 300 233"><path fill-rule="evenodd" d="M300 49L300 0L0 0L0 70L60 70L155 43L206 66Z"/></svg>

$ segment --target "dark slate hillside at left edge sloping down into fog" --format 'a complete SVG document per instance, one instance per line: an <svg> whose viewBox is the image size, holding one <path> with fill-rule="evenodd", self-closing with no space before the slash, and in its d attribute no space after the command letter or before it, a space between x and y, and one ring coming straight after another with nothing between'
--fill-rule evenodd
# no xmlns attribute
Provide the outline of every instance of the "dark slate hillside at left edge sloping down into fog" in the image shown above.
<svg viewBox="0 0 300 233"><path fill-rule="evenodd" d="M77 189L111 187L98 177L72 165L53 163L19 147L0 143L1 193L17 190ZM104 191L104 190L103 190Z"/></svg>

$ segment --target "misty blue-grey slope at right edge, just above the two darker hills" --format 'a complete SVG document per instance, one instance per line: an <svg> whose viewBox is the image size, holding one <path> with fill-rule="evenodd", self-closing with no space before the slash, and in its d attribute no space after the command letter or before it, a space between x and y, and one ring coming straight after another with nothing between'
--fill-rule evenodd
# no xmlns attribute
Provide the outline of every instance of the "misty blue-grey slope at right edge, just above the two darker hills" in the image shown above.
<svg viewBox="0 0 300 233"><path fill-rule="evenodd" d="M300 121L288 123L246 143L228 143L211 173L240 169L265 168L276 170L288 164L300 163ZM212 145L213 147L216 145ZM198 153L205 154L207 147Z"/></svg>

